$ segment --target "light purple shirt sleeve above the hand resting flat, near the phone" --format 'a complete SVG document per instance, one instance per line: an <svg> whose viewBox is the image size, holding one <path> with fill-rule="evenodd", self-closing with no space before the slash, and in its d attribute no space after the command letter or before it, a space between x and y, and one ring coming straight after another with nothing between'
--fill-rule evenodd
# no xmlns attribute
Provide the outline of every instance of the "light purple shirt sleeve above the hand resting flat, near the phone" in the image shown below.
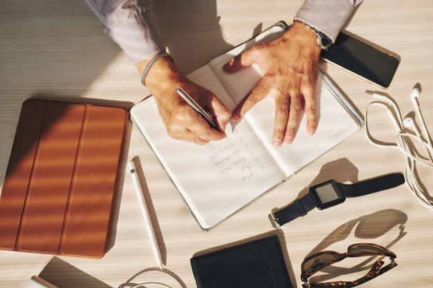
<svg viewBox="0 0 433 288"><path fill-rule="evenodd" d="M353 9L361 2L362 0L305 0L294 19L323 32L334 42Z"/></svg>

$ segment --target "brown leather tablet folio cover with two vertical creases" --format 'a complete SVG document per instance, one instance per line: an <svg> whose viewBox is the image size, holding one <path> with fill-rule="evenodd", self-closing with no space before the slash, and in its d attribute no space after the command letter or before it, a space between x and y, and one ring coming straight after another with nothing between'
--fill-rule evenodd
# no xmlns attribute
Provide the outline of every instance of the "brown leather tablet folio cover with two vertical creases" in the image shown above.
<svg viewBox="0 0 433 288"><path fill-rule="evenodd" d="M0 249L104 256L127 114L24 102L0 195Z"/></svg>

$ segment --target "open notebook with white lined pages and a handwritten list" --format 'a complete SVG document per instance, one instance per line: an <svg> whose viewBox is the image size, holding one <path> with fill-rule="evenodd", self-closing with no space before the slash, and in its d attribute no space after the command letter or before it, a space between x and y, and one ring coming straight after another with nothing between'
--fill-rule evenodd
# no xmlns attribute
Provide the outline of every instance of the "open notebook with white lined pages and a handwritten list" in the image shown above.
<svg viewBox="0 0 433 288"><path fill-rule="evenodd" d="M212 90L232 110L257 84L260 75L254 67L228 74L222 66L253 44L275 39L284 29L283 25L275 25L188 77ZM235 128L227 127L227 138L204 146L169 137L153 97L133 106L131 118L206 230L284 182L363 124L362 116L323 73L317 81L319 122L315 135L307 136L304 132L303 116L293 143L275 148L271 144L274 110L273 99L262 100Z"/></svg>

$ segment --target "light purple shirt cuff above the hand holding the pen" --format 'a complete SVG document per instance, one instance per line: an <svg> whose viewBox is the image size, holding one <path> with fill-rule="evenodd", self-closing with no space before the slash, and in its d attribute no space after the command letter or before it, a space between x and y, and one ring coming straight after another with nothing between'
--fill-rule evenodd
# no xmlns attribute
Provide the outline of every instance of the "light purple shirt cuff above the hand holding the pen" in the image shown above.
<svg viewBox="0 0 433 288"><path fill-rule="evenodd" d="M153 12L141 11L104 32L125 51L135 64L165 50Z"/></svg>

